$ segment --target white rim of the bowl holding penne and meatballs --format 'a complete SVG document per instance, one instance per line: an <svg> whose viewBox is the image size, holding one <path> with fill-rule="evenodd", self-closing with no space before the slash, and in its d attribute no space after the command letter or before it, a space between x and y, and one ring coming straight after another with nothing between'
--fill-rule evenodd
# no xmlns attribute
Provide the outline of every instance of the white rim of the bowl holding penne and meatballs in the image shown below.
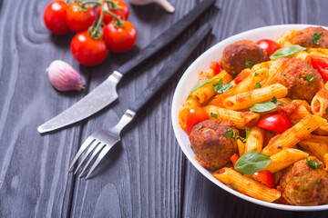
<svg viewBox="0 0 328 218"><path fill-rule="evenodd" d="M197 71L206 70L208 68L208 65L206 65L205 68L201 68L202 65L201 66L199 65L201 63L201 61L205 60L206 58L209 58L209 56L212 55L212 53L214 53L216 50L223 49L224 45L229 45L229 44L231 44L235 41L241 40L241 39L249 39L247 37L243 38L248 35L263 34L266 31L282 31L283 32L283 30L289 30L289 29L300 30L300 29L308 27L308 26L322 26L323 28L328 29L327 26L323 26L323 25L308 25L308 24L268 25L268 26L244 31L237 35L232 35L232 36L220 41L216 45L212 45L204 53L200 54L200 56L192 64L190 64L190 66L187 68L187 70L182 74L181 78L179 79L179 83L175 89L175 92L173 94L173 100L172 100L172 106L171 106L171 121L172 121L174 134L179 143L179 147L181 148L182 152L187 156L190 163L192 163L192 165L194 167L196 167L196 169L201 174L203 174L205 177L207 177L212 183L215 183L216 185L218 185L221 189L227 191L228 193L232 193L233 195L240 197L243 200L246 200L251 203L256 203L261 206L266 206L266 207L270 207L273 209L279 209L279 210L284 210L284 211L322 211L322 210L328 210L328 204L316 205L316 206L296 206L296 205L285 205L285 204L279 204L279 203L268 203L268 202L264 202L264 201L252 198L248 195L239 193L239 192L229 188L227 185L220 183L216 178L214 178L214 176L212 176L212 174L209 171L207 171L205 168L200 166L200 163L198 163L195 159L195 154L193 154L192 150L190 149L190 145L186 144L186 137L188 137L188 136L179 127L179 109L182 106L182 104L181 104L182 96L181 95L183 95L181 93L184 90L184 97L185 97L184 100L185 100L187 97L186 92L188 92L188 91L186 91L186 88L184 88L184 86L187 82L187 78L190 77L190 74L192 73L192 71L194 72L195 70L197 70ZM259 37L258 40L261 38L263 38L263 37ZM270 38L270 37L266 37L266 38ZM274 38L272 38L272 39L274 39ZM219 54L219 55L221 55L221 54ZM219 60L220 58L217 58L217 59ZM202 66L202 67L204 67L204 66ZM189 84L194 85L192 83L189 83ZM190 89L187 88L187 90L189 90L189 91L190 91ZM185 135L183 135L183 134L185 134ZM188 142L189 142L189 140L188 140ZM191 150L191 152L190 152L190 150Z"/></svg>

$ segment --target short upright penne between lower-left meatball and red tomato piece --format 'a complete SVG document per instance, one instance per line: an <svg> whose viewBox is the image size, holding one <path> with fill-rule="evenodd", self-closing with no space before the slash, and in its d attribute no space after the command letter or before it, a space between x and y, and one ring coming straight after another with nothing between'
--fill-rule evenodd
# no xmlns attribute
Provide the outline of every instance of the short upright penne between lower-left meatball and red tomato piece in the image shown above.
<svg viewBox="0 0 328 218"><path fill-rule="evenodd" d="M250 129L250 134L247 137L247 141L245 144L245 153L249 152L261 152L263 142L265 137L265 130L258 127L253 126Z"/></svg>

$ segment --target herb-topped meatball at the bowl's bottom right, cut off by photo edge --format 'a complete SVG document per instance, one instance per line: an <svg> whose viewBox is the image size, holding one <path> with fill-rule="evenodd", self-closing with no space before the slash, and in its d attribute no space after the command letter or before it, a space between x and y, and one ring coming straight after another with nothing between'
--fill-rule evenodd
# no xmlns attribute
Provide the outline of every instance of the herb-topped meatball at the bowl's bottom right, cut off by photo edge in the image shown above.
<svg viewBox="0 0 328 218"><path fill-rule="evenodd" d="M309 159L319 162L313 156ZM292 205L318 205L327 203L328 173L322 167L313 169L307 161L293 163L282 175L279 189L283 199Z"/></svg>

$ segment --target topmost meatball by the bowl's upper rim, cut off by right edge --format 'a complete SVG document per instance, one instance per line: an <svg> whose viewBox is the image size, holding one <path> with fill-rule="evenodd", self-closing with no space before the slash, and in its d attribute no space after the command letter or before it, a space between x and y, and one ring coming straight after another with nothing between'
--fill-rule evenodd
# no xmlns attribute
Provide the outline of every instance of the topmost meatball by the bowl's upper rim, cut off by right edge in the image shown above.
<svg viewBox="0 0 328 218"><path fill-rule="evenodd" d="M323 33L319 38L319 45L311 42L314 33ZM328 48L328 31L323 29L323 27L307 27L292 37L292 44L301 45L303 47Z"/></svg>

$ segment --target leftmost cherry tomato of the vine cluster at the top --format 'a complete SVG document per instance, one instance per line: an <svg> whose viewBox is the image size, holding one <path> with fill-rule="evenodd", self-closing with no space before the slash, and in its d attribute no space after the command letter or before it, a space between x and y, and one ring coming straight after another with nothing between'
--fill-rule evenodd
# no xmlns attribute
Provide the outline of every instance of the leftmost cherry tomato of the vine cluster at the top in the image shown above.
<svg viewBox="0 0 328 218"><path fill-rule="evenodd" d="M46 28L56 35L65 35L70 29L66 22L68 5L64 1L53 1L46 5L44 22Z"/></svg>

